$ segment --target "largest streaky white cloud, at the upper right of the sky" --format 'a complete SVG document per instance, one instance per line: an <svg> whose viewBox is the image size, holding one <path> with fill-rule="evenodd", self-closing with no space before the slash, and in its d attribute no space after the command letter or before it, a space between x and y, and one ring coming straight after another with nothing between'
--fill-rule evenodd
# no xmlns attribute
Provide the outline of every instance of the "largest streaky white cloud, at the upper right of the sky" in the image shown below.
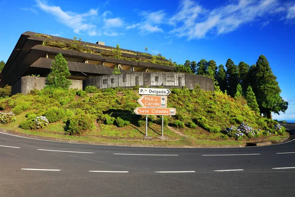
<svg viewBox="0 0 295 197"><path fill-rule="evenodd" d="M267 15L284 10L278 0L238 0L212 10L192 0L182 0L179 12L169 20L171 25L176 26L170 33L188 39L204 38L208 33L230 33L241 25L263 20ZM265 22L264 26L268 23Z"/></svg>

